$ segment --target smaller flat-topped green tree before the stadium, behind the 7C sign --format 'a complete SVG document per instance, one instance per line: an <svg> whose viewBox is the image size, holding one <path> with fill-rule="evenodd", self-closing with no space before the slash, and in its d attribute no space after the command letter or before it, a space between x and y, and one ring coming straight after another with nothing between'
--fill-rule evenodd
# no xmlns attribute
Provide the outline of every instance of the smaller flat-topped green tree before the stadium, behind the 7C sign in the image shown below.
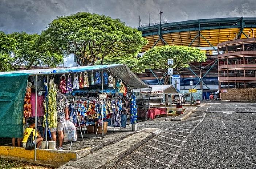
<svg viewBox="0 0 256 169"><path fill-rule="evenodd" d="M175 68L179 74L180 70L189 67L190 63L205 62L207 57L203 51L195 47L165 45L146 51L143 57L139 58L138 64L145 69L157 69L163 72L164 84L167 84L169 68L167 59L173 59L172 68Z"/></svg>

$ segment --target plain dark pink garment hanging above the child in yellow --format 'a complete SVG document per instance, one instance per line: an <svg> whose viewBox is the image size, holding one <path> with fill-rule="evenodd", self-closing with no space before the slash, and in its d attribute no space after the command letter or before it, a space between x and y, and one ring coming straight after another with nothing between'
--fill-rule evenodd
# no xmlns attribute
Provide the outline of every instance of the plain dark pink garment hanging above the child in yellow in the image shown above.
<svg viewBox="0 0 256 169"><path fill-rule="evenodd" d="M45 96L37 96L37 117L43 117L45 114L45 106L43 102L45 101ZM35 117L35 93L31 93L31 106L32 106L32 116Z"/></svg>

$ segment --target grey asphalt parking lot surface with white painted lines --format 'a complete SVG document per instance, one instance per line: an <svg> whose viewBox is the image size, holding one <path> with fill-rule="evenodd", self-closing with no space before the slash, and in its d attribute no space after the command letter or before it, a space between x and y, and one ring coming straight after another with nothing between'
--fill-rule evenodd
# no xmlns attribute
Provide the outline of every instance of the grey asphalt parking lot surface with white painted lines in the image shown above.
<svg viewBox="0 0 256 169"><path fill-rule="evenodd" d="M163 132L113 169L256 168L256 104L211 103L186 120L159 122Z"/></svg>

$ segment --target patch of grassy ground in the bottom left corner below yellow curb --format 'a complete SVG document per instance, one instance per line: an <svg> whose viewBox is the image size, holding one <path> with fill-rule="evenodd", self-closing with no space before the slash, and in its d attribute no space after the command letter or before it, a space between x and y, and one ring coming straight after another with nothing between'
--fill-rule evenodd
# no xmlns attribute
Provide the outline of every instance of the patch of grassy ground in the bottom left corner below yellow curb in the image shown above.
<svg viewBox="0 0 256 169"><path fill-rule="evenodd" d="M54 169L53 167L0 158L1 169Z"/></svg>

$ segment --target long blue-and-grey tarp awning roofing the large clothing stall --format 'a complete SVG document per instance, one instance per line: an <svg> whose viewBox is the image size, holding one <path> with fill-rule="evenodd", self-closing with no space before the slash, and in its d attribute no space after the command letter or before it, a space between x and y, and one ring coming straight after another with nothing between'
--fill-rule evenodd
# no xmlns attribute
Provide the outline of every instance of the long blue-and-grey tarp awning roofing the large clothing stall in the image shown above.
<svg viewBox="0 0 256 169"><path fill-rule="evenodd" d="M27 74L32 76L35 74L46 75L46 74L64 74L64 73L75 73L85 71L104 70L111 72L120 80L123 80L127 85L133 88L149 88L136 74L134 74L125 64L113 64L113 65L95 65L95 66L81 66L72 68L51 68L51 69L34 69L34 70L19 70L12 72L0 72L0 76L16 76L19 74Z"/></svg>

